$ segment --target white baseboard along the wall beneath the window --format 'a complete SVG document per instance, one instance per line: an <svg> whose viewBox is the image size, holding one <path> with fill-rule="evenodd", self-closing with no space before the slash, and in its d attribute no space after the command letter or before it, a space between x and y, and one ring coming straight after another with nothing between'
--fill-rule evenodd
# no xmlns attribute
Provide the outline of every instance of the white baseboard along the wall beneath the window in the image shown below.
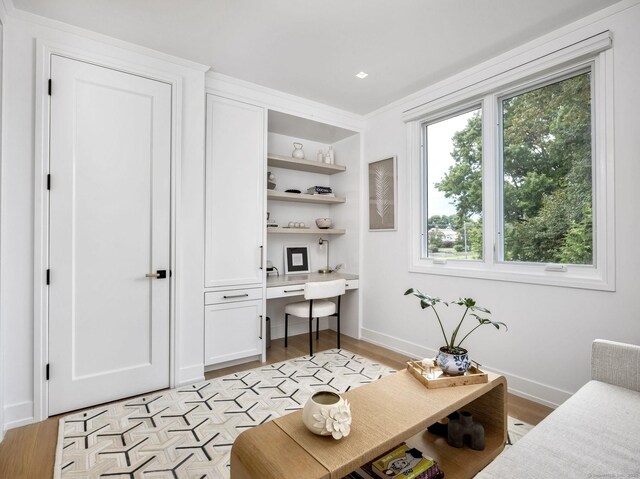
<svg viewBox="0 0 640 479"><path fill-rule="evenodd" d="M360 336L363 341L367 341L378 346L382 346L398 353L406 354L416 358L431 358L437 354L435 349L426 348L420 344L412 343L404 339L396 338L387 334L379 333L371 329L362 328ZM542 384L531 379L503 371L490 364L484 365L488 370L502 374L507 378L509 392L516 396L529 399L531 401L544 404L552 408L558 407L572 395L569 391Z"/></svg>

